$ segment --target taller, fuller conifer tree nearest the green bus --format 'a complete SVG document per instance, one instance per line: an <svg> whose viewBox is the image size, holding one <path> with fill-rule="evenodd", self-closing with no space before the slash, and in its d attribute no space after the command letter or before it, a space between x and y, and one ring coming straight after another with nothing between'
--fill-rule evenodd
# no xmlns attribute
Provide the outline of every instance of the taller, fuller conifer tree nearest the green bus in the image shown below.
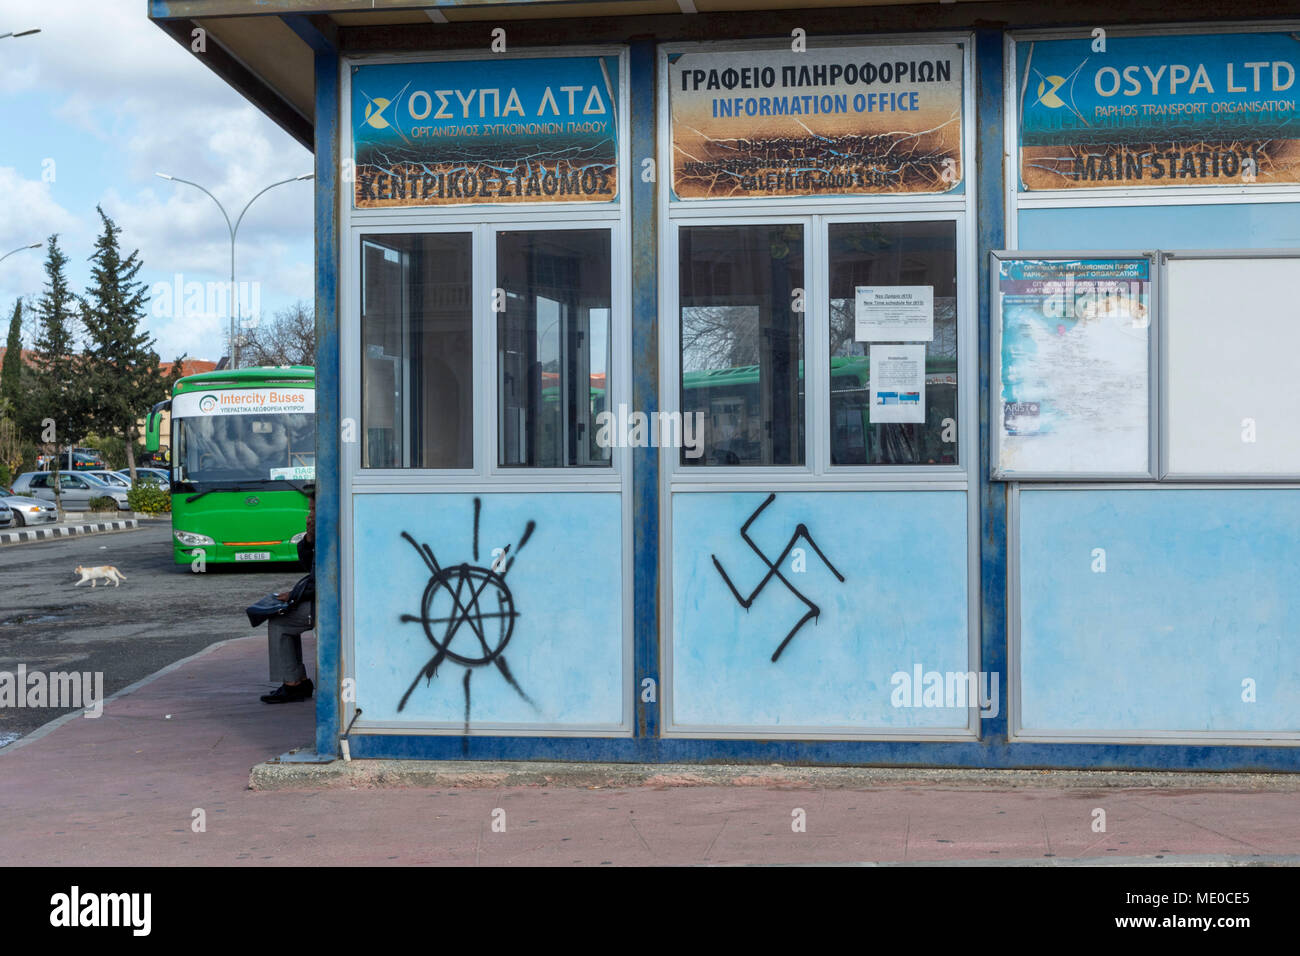
<svg viewBox="0 0 1300 956"><path fill-rule="evenodd" d="M118 248L122 230L100 207L95 211L104 232L90 258L90 287L78 297L88 345L87 384L95 397L95 428L126 442L126 467L134 483L139 420L168 397L181 360L170 376L159 367L153 338L140 328L148 297L146 284L135 278L143 265L139 250L124 259Z"/></svg>

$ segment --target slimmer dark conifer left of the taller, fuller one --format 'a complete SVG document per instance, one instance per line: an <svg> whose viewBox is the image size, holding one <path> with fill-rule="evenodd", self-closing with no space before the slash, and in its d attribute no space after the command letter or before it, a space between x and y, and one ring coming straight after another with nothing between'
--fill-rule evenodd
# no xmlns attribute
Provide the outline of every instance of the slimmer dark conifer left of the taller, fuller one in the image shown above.
<svg viewBox="0 0 1300 956"><path fill-rule="evenodd" d="M46 290L36 302L36 339L32 342L32 388L25 427L31 441L53 442L55 499L60 503L60 445L73 446L90 424L90 394L82 356L74 352L74 295L64 269L68 256L58 237L46 246ZM51 427L47 427L51 425Z"/></svg>

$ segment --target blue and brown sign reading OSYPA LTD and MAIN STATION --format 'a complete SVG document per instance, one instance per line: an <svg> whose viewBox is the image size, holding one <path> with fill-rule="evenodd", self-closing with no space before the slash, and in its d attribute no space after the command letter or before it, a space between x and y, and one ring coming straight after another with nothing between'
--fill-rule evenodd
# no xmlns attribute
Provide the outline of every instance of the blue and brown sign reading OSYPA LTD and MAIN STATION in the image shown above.
<svg viewBox="0 0 1300 956"><path fill-rule="evenodd" d="M1017 44L1023 190L1300 182L1300 36Z"/></svg>

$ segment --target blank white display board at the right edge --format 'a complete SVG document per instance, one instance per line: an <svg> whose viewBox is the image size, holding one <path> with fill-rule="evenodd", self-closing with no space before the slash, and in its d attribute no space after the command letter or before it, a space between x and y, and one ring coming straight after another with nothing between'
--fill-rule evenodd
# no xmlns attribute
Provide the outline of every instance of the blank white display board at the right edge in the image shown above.
<svg viewBox="0 0 1300 956"><path fill-rule="evenodd" d="M1300 476L1300 254L1166 254L1165 471Z"/></svg>

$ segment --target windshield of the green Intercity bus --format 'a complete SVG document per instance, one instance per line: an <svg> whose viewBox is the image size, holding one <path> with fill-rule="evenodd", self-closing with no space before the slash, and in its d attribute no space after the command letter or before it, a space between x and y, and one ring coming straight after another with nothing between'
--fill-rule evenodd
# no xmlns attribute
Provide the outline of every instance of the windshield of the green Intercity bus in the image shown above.
<svg viewBox="0 0 1300 956"><path fill-rule="evenodd" d="M174 423L177 481L228 485L312 480L313 414L204 415Z"/></svg>

